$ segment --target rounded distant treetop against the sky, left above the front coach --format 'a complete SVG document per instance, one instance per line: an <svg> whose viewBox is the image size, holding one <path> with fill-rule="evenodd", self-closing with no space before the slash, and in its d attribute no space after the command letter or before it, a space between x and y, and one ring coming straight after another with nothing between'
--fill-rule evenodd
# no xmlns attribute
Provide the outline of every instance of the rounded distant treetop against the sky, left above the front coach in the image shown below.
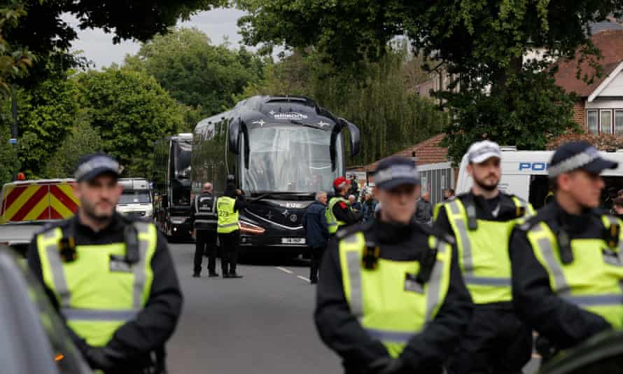
<svg viewBox="0 0 623 374"><path fill-rule="evenodd" d="M231 107L232 95L247 83L258 81L263 62L244 48L213 46L200 30L182 28L144 43L125 65L146 71L174 99L211 116Z"/></svg>

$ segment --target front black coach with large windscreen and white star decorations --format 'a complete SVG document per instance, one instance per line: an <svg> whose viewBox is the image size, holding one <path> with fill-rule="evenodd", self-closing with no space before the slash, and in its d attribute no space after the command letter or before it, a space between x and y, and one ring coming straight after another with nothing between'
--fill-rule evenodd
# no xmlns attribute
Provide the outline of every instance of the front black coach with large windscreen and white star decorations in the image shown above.
<svg viewBox="0 0 623 374"><path fill-rule="evenodd" d="M222 195L234 175L253 200L240 212L242 253L306 254L302 217L317 191L331 191L333 179L344 176L344 130L356 155L358 127L307 97L243 100L195 127L192 191L209 181Z"/></svg>

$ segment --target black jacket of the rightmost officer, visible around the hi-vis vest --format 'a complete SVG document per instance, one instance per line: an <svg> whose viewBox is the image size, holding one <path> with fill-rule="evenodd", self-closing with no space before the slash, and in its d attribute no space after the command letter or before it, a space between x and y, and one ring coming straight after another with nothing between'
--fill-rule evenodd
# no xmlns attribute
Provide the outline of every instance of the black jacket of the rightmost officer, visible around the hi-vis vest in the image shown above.
<svg viewBox="0 0 623 374"><path fill-rule="evenodd" d="M554 200L526 224L514 228L511 236L512 293L517 314L541 338L547 339L540 339L541 351L553 347L566 349L612 327L603 317L563 300L552 291L547 270L535 258L527 237L528 230L539 222L547 223L554 233L564 228L569 240L602 239L603 222L594 209L576 216L565 212Z"/></svg>

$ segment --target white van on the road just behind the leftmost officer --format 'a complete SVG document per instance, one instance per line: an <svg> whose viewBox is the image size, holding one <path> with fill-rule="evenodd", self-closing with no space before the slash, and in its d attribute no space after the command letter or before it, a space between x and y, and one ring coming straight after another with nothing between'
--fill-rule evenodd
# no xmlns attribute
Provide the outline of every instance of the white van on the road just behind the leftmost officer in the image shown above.
<svg viewBox="0 0 623 374"><path fill-rule="evenodd" d="M117 212L127 216L153 218L152 194L149 181L144 178L121 178L123 195L117 204Z"/></svg>

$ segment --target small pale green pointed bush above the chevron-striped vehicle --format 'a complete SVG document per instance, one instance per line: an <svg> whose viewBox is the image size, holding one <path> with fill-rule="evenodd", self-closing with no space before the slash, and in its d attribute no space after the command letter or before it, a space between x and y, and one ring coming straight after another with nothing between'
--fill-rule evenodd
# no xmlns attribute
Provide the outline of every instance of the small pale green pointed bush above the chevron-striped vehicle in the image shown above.
<svg viewBox="0 0 623 374"><path fill-rule="evenodd" d="M43 175L45 178L72 178L78 166L78 159L89 153L102 151L102 137L92 127L87 111L78 112L71 132L62 145L48 158Z"/></svg>

